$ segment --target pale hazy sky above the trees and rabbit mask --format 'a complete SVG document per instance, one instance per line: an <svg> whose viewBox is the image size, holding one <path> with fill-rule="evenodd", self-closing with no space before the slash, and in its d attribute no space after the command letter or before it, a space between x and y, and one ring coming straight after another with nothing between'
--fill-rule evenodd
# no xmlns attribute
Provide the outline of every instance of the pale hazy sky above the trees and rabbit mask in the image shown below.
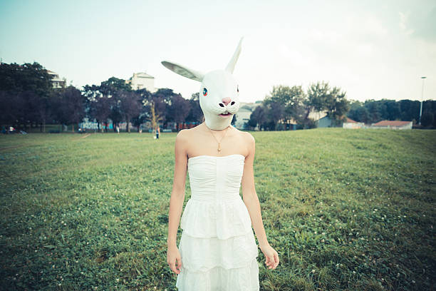
<svg viewBox="0 0 436 291"><path fill-rule="evenodd" d="M200 83L168 70L234 70L239 100L326 81L348 100L436 100L436 1L0 0L0 57L78 88L146 72L184 98ZM422 82L422 76L426 76Z"/></svg>

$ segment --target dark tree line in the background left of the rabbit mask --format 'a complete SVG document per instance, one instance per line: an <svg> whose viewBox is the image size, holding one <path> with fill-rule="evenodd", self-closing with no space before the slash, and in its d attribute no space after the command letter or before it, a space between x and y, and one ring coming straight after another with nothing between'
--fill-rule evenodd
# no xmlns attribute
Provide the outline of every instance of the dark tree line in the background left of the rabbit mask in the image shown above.
<svg viewBox="0 0 436 291"><path fill-rule="evenodd" d="M109 78L100 85L53 88L51 76L39 63L17 63L0 66L0 124L18 129L39 126L45 132L46 123L74 125L87 117L97 121L99 131L108 131L126 122L139 131L142 123L201 123L203 113L198 93L189 100L170 88L151 93L147 89L133 90L125 80ZM103 124L105 126L103 126Z"/></svg>

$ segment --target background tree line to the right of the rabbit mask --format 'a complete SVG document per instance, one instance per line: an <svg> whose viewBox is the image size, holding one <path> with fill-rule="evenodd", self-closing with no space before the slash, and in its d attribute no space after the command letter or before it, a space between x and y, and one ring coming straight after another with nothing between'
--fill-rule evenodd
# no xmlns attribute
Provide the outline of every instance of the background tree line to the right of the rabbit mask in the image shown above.
<svg viewBox="0 0 436 291"><path fill-rule="evenodd" d="M331 87L328 82L312 83L306 92L301 86L274 86L264 102L251 113L248 126L261 130L286 130L286 124L296 123L299 128L314 128L316 121L309 117L311 112L325 112L332 120L331 126L341 126L346 118L365 124L378 121L420 120L420 101L373 99L348 101L341 88ZM436 101L422 103L421 124L436 128ZM288 128L287 128L288 127Z"/></svg>

